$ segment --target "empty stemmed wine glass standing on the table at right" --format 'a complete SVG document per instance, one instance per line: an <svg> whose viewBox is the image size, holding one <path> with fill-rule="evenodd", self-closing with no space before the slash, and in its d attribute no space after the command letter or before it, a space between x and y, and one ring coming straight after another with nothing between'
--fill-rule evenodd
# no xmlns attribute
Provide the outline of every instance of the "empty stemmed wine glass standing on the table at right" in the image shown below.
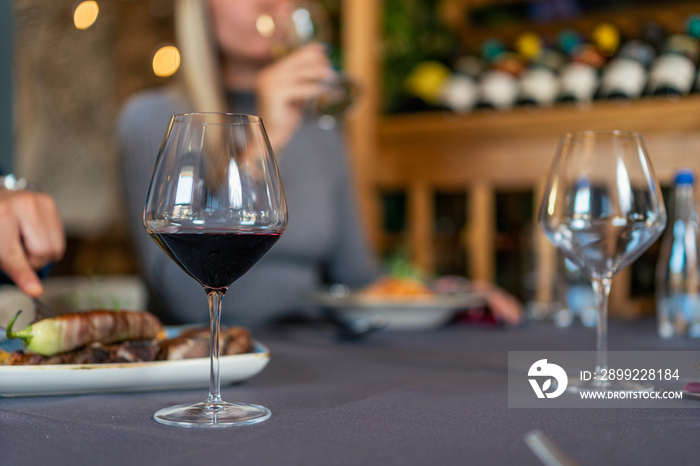
<svg viewBox="0 0 700 466"><path fill-rule="evenodd" d="M608 368L607 314L613 276L661 235L666 210L638 133L566 134L559 144L539 223L549 240L588 276L598 311L596 373ZM641 390L593 381L572 389Z"/></svg>

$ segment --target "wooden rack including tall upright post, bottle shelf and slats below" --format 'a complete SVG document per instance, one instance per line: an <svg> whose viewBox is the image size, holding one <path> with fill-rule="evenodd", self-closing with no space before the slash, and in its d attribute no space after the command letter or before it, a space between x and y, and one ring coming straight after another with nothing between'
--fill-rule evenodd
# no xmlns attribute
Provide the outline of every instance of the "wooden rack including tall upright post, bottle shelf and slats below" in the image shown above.
<svg viewBox="0 0 700 466"><path fill-rule="evenodd" d="M381 249L379 194L386 189L408 193L408 237L413 259L431 270L434 264L434 203L439 190L468 192L469 278L495 277L495 193L532 189L535 203L562 134L583 130L627 130L642 134L662 184L673 172L689 167L700 172L700 96L677 101L644 98L627 104L596 101L586 107L556 106L535 111L479 111L457 116L428 113L380 116L378 18L381 2L344 2L346 68L359 77L364 102L349 122L349 142L357 192L368 235ZM369 25L369 26L368 26ZM371 26L374 25L374 26ZM536 212L537 209L533 208ZM538 234L537 275L553 273L554 249ZM616 278L611 312L638 315L643 306L629 299L629 271ZM549 299L548 281L537 286Z"/></svg>

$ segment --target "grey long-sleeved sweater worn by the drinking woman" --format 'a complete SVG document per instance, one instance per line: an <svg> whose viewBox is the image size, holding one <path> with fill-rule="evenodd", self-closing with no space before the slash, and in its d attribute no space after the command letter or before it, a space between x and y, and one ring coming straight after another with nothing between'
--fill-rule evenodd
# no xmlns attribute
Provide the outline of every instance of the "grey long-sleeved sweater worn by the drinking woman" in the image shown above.
<svg viewBox="0 0 700 466"><path fill-rule="evenodd" d="M252 94L229 96L231 111L255 113ZM206 295L151 240L143 226L143 208L153 165L170 116L187 112L173 89L142 92L123 108L118 122L121 180L127 221L152 312L165 323L205 323ZM307 294L325 280L361 286L378 269L361 234L353 205L343 140L315 121L297 131L278 154L289 209L282 238L248 273L236 281L223 301L222 322L259 327L285 314L303 311Z"/></svg>

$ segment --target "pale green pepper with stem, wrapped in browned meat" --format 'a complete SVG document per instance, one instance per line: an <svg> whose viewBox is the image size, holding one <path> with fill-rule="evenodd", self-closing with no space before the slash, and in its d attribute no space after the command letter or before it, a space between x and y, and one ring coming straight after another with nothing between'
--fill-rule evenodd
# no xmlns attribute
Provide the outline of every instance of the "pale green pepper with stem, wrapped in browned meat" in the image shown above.
<svg viewBox="0 0 700 466"><path fill-rule="evenodd" d="M162 329L158 318L145 311L86 311L42 319L12 332L21 311L7 326L7 338L21 338L25 347L44 356L71 351L90 343L156 338Z"/></svg>

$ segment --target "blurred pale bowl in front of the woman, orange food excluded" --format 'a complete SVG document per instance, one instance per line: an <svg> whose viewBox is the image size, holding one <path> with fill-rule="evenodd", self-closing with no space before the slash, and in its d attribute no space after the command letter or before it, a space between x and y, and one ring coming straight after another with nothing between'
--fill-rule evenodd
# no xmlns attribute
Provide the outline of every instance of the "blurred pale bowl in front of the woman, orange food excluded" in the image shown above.
<svg viewBox="0 0 700 466"><path fill-rule="evenodd" d="M447 324L459 310L485 304L481 293L456 293L434 295L424 298L394 299L350 293L336 297L319 292L311 296L318 305L331 309L336 316L346 320L357 320L372 316L383 316L386 330L427 330Z"/></svg>

